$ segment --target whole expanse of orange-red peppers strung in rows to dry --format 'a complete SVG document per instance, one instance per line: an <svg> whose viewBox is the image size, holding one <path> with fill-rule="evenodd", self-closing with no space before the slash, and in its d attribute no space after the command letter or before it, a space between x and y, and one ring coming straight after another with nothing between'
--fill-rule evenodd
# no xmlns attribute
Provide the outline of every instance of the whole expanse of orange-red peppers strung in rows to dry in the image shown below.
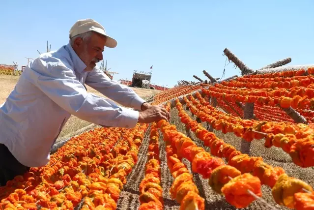
<svg viewBox="0 0 314 210"><path fill-rule="evenodd" d="M83 132L0 198L29 194L25 209L312 210L313 81L307 68L161 91L152 104L169 122Z"/></svg>

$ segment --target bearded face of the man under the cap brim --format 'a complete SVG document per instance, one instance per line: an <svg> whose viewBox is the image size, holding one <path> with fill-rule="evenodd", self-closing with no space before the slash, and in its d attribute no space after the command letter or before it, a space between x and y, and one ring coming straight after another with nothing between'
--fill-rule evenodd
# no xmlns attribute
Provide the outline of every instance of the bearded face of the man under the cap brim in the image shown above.
<svg viewBox="0 0 314 210"><path fill-rule="evenodd" d="M87 40L77 38L74 41L73 49L80 59L86 64L86 71L91 71L96 63L103 60L103 51L106 37L96 32L92 32Z"/></svg>

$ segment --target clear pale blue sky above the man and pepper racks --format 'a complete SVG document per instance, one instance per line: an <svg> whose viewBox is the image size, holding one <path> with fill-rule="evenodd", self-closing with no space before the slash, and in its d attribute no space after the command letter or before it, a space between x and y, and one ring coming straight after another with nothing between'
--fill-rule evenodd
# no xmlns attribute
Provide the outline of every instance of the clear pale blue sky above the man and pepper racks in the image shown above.
<svg viewBox="0 0 314 210"><path fill-rule="evenodd" d="M106 48L114 80L131 79L133 70L149 71L152 82L173 86L178 80L205 79L206 69L221 77L227 47L253 69L291 57L290 64L314 63L312 0L4 0L0 13L0 63L27 64L68 43L79 19L101 23L118 45ZM228 62L227 62L228 63ZM100 63L99 63L100 64ZM226 77L238 74L230 63Z"/></svg>

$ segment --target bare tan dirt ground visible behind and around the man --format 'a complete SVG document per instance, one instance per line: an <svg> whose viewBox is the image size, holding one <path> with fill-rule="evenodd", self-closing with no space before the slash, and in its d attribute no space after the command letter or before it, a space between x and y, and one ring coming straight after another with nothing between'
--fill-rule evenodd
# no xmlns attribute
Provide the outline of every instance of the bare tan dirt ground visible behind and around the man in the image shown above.
<svg viewBox="0 0 314 210"><path fill-rule="evenodd" d="M14 90L15 84L18 81L18 76L10 76L10 75L0 75L0 104L5 102L5 99L8 97L10 92ZM103 96L97 90L94 90L88 86L86 86L87 91L94 93L99 96ZM132 88L137 94L139 94L142 98L145 98L149 95L155 94L160 92L160 90L147 90L147 89L140 89L140 88ZM66 135L74 133L75 131L86 127L87 125L91 124L88 121L81 120L75 116L71 116L71 118L66 122L63 129L60 132L59 138L62 138Z"/></svg>

